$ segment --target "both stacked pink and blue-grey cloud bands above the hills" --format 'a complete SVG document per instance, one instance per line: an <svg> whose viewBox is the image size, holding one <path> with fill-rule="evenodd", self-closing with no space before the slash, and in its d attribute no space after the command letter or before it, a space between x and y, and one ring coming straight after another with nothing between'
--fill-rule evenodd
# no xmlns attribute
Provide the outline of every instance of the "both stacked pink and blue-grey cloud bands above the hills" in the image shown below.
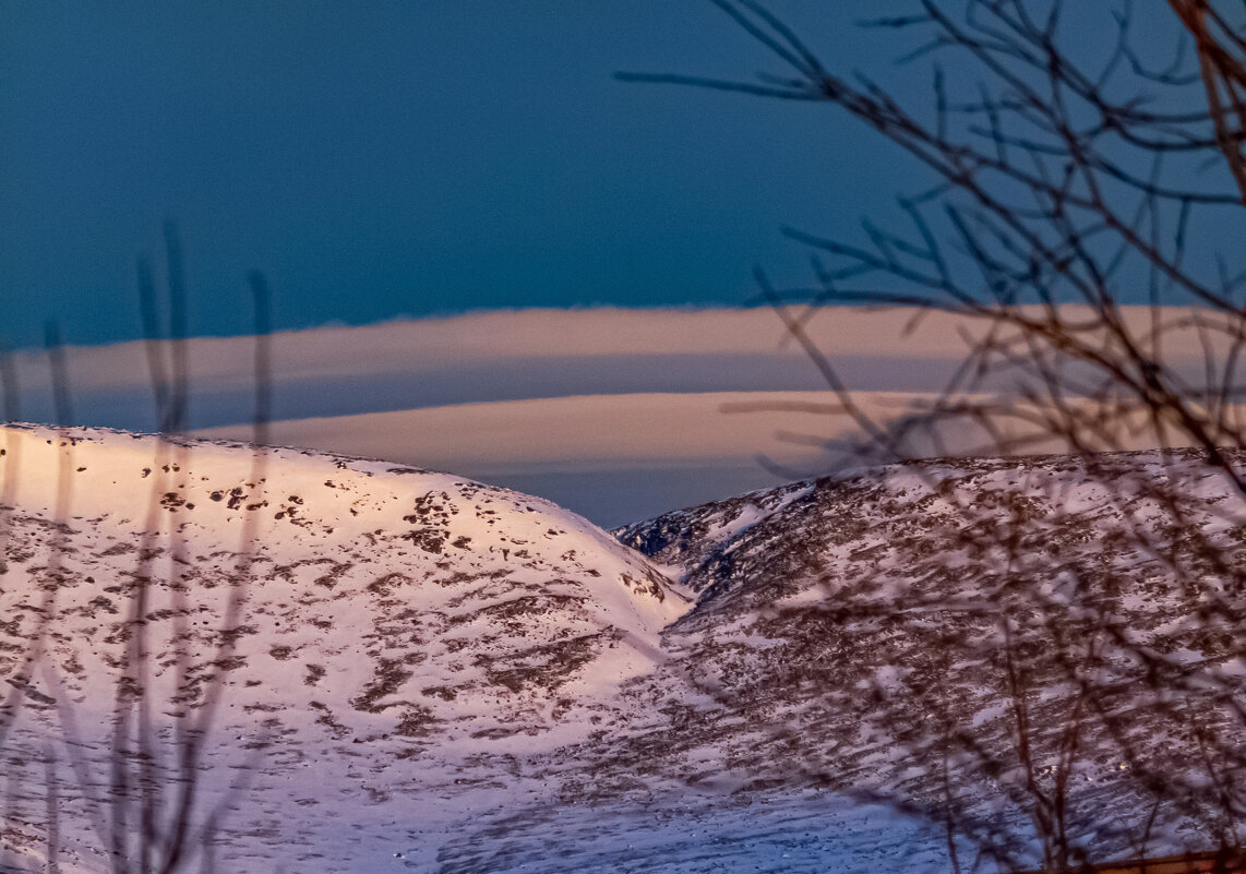
<svg viewBox="0 0 1246 874"><path fill-rule="evenodd" d="M1190 310L1165 310L1169 323ZM934 396L983 322L943 313L827 308L810 342L882 419ZM1126 309L1139 328L1146 309ZM606 524L825 471L827 441L860 436L769 309L518 310L288 332L269 338L273 440L442 469L558 500ZM1166 359L1201 372L1196 327ZM254 338L184 342L189 426L247 436ZM156 426L148 352L65 350L72 418ZM14 355L19 415L52 419L49 359ZM1007 374L983 387L1008 395ZM949 435L972 450L982 435ZM765 466L759 456L769 459Z"/></svg>

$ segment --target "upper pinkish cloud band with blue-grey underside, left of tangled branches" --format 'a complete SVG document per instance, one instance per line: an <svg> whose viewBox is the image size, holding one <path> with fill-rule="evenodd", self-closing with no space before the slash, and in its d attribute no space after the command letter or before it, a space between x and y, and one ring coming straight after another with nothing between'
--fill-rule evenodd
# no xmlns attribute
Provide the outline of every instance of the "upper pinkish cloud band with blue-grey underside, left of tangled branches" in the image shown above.
<svg viewBox="0 0 1246 874"><path fill-rule="evenodd" d="M912 312L821 310L811 339L854 385L934 390L964 353L954 319ZM518 310L272 335L274 415L308 418L455 403L637 391L814 390L821 377L769 309ZM245 421L254 342L184 344L191 425ZM143 343L70 347L82 424L152 428ZM47 357L15 357L22 415L52 415Z"/></svg>

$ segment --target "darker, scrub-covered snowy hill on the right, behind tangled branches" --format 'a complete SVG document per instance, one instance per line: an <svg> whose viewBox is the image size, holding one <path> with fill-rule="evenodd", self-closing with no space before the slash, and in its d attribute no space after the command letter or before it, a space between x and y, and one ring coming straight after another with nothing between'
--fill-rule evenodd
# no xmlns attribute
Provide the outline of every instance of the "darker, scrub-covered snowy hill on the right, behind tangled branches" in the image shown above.
<svg viewBox="0 0 1246 874"><path fill-rule="evenodd" d="M663 747L1018 835L1067 792L1098 859L1241 839L1207 787L1246 763L1246 501L1192 450L911 463L617 534L698 597L652 681L672 724L619 773Z"/></svg>

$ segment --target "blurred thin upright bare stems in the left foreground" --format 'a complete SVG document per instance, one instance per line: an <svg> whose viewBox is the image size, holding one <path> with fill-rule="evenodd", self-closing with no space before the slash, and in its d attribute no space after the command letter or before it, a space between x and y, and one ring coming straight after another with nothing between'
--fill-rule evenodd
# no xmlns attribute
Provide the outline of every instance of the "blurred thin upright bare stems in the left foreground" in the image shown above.
<svg viewBox="0 0 1246 874"><path fill-rule="evenodd" d="M0 704L0 751L6 751L6 741L14 723L21 717L31 696L39 697L55 711L59 737L52 737L42 751L42 784L46 805L41 828L31 827L19 812L19 797L29 794L39 777L25 774L25 782L14 783L10 773L10 797L4 818L6 832L26 829L26 845L42 845L42 870L60 870L62 850L61 804L69 797L81 803L82 817L96 840L107 854L108 864L117 874L176 874L189 870L212 872L214 843L231 804L245 789L247 774L254 772L255 762L239 768L228 792L219 797L207 797L203 773L207 771L204 754L214 728L226 687L226 672L233 662L239 637L252 576L252 559L257 544L255 514L248 514L239 532L237 561L229 579L227 606L221 627L209 636L211 652L197 650L191 633L188 616L188 585L184 569L191 565L176 525L162 532L167 514L162 514L162 496L172 491L171 471L187 464L189 441L181 434L186 426L189 372L186 357L187 319L186 283L182 253L176 228L164 227L167 295L162 300L157 292L152 267L147 259L138 262L138 292L143 319L147 362L159 428L156 456L151 463L151 497L143 522L143 535L137 549L136 565L123 582L125 613L121 622L123 652L117 667L111 724L110 752L98 773L101 762L92 759L87 751L69 689L57 666L46 651L54 617L56 616L56 591L64 580L59 562L65 549L64 537L49 544L47 577L55 585L44 586L44 596L37 608L36 627L26 636L26 651L20 666L7 677L11 686ZM254 449L249 481L262 487L265 470L267 428L269 420L269 291L263 274L249 276L255 312L255 411ZM162 325L162 308L167 309L168 324ZM60 423L72 421L69 409L70 385L65 373L60 338L55 328L49 328L47 353L52 364L56 418ZM7 359L2 362L5 388L5 414L9 421L20 420L16 409L17 385ZM71 517L71 474L74 466L75 438L62 428L59 441L59 489L54 510L54 531L67 530ZM14 443L14 446L19 444ZM21 459L10 455L4 473L4 497L0 500L0 517L7 535L9 516L14 512L12 495L21 476ZM157 567L161 557L167 566ZM169 641L153 637L151 627L155 588L167 592L172 615ZM155 648L168 645L173 660L173 697L156 699L155 678L161 672L153 665ZM167 667L167 663L159 668ZM209 668L204 672L204 668ZM42 686L45 692L37 692ZM156 711L172 716L172 741L169 733L155 718ZM249 744L254 749L252 759L263 756L263 742ZM9 751L10 767L19 758ZM66 767L67 766L67 767ZM64 778L64 779L62 779ZM19 788L21 787L21 788ZM19 825L21 824L21 825ZM41 834L40 834L41 832ZM36 837L31 837L36 835ZM21 857L0 855L4 870L27 870ZM29 869L34 870L34 869Z"/></svg>

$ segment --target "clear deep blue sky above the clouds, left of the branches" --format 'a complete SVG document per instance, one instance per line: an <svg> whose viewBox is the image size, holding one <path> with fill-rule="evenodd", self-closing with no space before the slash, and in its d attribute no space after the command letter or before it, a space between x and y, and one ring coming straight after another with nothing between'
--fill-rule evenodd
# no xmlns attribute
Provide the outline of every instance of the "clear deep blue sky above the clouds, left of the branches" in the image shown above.
<svg viewBox="0 0 1246 874"><path fill-rule="evenodd" d="M775 4L870 61L834 6ZM739 303L755 262L802 269L781 222L855 223L915 181L826 107L612 79L763 66L708 2L6 2L4 333L136 335L166 217L197 334L249 329L250 268L279 328Z"/></svg>

